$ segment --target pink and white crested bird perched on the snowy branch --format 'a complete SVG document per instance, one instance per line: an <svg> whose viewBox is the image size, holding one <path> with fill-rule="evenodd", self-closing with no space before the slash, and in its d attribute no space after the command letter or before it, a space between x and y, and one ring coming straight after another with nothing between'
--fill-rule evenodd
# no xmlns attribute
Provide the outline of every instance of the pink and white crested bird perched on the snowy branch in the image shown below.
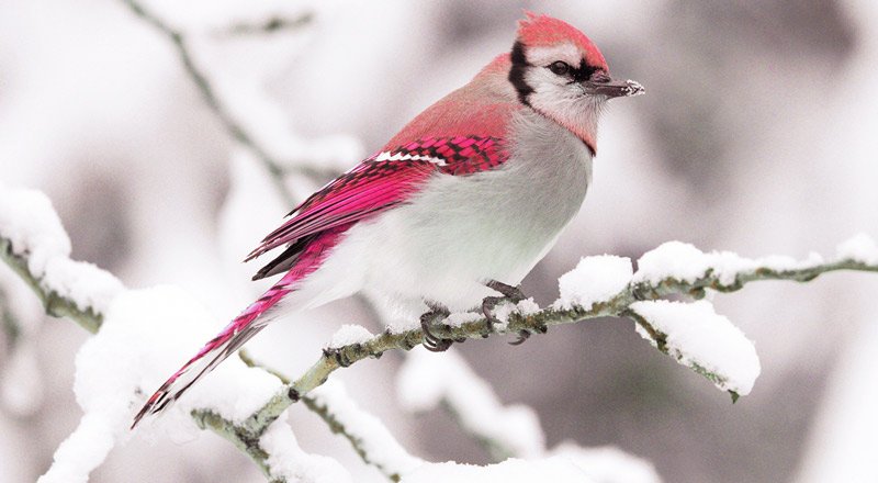
<svg viewBox="0 0 878 483"><path fill-rule="evenodd" d="M283 276L149 397L132 428L282 313L361 293L398 314L423 313L424 345L432 350L451 344L429 330L437 314L481 303L496 321L492 308L524 299L518 283L579 211L606 102L643 92L611 78L579 30L525 12L510 52L262 239L245 261L284 249L254 280Z"/></svg>

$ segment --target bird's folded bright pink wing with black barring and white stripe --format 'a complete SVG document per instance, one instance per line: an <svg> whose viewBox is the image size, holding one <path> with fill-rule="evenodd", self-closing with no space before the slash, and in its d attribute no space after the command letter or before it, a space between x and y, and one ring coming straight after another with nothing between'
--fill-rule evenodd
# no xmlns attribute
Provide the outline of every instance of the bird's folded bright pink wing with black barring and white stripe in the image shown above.
<svg viewBox="0 0 878 483"><path fill-rule="evenodd" d="M504 142L493 136L426 137L379 153L330 181L293 210L247 260L281 245L281 257L257 273L263 278L289 268L307 238L326 229L376 215L405 203L431 176L465 176L508 159ZM303 243L305 242L305 243Z"/></svg>

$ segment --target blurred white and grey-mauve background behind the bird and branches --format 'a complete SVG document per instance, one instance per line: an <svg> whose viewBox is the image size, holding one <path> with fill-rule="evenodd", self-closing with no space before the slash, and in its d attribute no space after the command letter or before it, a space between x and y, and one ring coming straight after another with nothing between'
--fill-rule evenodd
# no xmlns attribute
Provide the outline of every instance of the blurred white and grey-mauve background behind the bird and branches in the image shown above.
<svg viewBox="0 0 878 483"><path fill-rule="evenodd" d="M185 33L228 119L288 169L301 200L510 48L527 8L598 44L648 94L612 101L594 184L525 280L540 304L581 256L637 258L663 242L757 257L831 256L878 238L878 4L869 0L144 2ZM270 19L285 19L271 24ZM217 327L259 290L239 261L290 210L259 156L229 136L167 32L124 0L0 0L0 182L45 191L74 258L126 285L181 285ZM302 176L305 172L308 176ZM34 481L74 429L76 351L88 334L45 319L0 267L20 332L0 345L0 481ZM627 319L553 328L520 347L459 350L505 403L539 414L549 446L614 445L667 482L874 482L878 280L833 273L717 295L763 373L735 405L652 349ZM342 323L380 330L360 301L275 324L248 347L303 371ZM193 347L193 350L195 347ZM441 356L437 356L441 357ZM415 454L487 463L442 412L395 397L402 355L334 377ZM300 443L382 481L301 407ZM213 434L132 438L94 482L262 481Z"/></svg>

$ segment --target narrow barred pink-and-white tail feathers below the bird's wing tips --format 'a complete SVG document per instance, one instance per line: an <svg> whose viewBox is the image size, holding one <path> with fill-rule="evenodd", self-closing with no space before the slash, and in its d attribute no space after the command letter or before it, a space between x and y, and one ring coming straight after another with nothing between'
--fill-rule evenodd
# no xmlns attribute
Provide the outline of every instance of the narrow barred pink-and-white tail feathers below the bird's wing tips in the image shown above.
<svg viewBox="0 0 878 483"><path fill-rule="evenodd" d="M132 429L137 426L137 423L144 416L158 414L167 408L192 384L211 372L219 362L268 325L270 318L266 317L264 314L293 290L289 282L284 277L269 289L259 300L251 303L240 315L235 317L216 337L205 344L195 357L165 381L161 387L140 408L137 416L134 417Z"/></svg>

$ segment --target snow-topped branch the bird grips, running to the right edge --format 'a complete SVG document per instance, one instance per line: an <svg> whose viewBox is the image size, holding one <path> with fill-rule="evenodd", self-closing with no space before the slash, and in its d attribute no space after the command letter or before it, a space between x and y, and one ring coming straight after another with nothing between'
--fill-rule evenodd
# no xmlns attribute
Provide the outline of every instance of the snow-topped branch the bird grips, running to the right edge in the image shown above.
<svg viewBox="0 0 878 483"><path fill-rule="evenodd" d="M506 304L498 307L496 314L503 324L493 327L477 314L452 314L443 324L432 327L431 332L450 340L481 339L492 334L542 334L552 325L574 324L597 317L627 317L641 327L658 350L729 391L732 397L738 397L750 392L753 380L758 375L757 360L755 369L753 367L752 357L755 352L748 352L752 346L743 339L743 335L730 330L728 319L716 314L716 317L703 321L707 326L668 324L667 311L650 311L649 304L665 303L661 300L672 295L701 299L708 290L733 292L748 282L759 280L806 282L822 273L838 270L878 271L878 248L873 240L860 235L840 245L838 254L831 260L824 261L812 255L807 260L797 261L788 257L746 259L728 251L705 254L691 245L671 242L645 254L639 260L639 267L638 272L632 273L631 262L627 258L583 258L576 269L560 279L561 297L551 306L539 308L530 300L517 305ZM707 306L707 302L680 304L669 315L688 317L691 311L703 314ZM689 337L693 332L700 336ZM697 347L694 353L689 353L691 348L686 344L687 338L696 339L695 344L711 344L718 334L735 336L731 351L702 351L701 347ZM326 350L311 369L279 391L247 424L258 434L302 395L323 384L335 370L363 359L380 358L389 350L410 350L423 338L420 328L385 332L362 342ZM741 362L735 362L738 357L743 357L745 367L741 368Z"/></svg>

